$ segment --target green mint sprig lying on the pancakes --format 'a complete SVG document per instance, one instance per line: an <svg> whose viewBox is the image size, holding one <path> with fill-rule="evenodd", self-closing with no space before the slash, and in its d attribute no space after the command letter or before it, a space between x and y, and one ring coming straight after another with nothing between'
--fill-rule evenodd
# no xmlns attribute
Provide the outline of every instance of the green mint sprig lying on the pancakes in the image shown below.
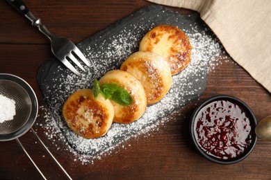
<svg viewBox="0 0 271 180"><path fill-rule="evenodd" d="M123 89L122 87L117 86L117 84L109 83L109 84L102 84L99 86L99 82L97 79L94 80L93 84L93 93L95 99L97 98L98 94L101 93L104 98L114 100L120 105L131 105L133 102L133 98L131 95Z"/></svg>

